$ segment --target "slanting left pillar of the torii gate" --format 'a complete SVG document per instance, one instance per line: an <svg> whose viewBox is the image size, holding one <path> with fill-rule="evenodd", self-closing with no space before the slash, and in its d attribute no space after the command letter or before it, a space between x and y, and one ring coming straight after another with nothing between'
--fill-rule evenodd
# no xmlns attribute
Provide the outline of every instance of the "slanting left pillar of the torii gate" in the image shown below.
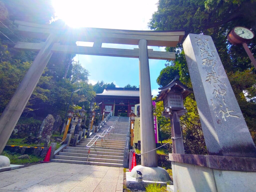
<svg viewBox="0 0 256 192"><path fill-rule="evenodd" d="M52 55L51 48L58 40L58 34L50 34L43 47L37 54L33 64L29 68L19 87L13 94L3 114L0 117L0 153L2 153L13 129L18 122L37 82ZM9 121L9 117L12 121Z"/></svg>

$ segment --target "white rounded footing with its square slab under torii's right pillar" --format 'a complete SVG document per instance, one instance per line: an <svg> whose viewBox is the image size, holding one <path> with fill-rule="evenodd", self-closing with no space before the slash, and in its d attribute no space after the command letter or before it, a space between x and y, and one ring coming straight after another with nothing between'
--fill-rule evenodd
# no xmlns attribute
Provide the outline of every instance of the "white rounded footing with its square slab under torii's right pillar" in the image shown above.
<svg viewBox="0 0 256 192"><path fill-rule="evenodd" d="M142 182L136 181L137 170L142 173ZM162 167L137 165L131 172L126 172L126 186L130 189L145 189L147 185L154 183L160 184L160 186L166 186L167 183L172 184L172 181L167 171Z"/></svg>

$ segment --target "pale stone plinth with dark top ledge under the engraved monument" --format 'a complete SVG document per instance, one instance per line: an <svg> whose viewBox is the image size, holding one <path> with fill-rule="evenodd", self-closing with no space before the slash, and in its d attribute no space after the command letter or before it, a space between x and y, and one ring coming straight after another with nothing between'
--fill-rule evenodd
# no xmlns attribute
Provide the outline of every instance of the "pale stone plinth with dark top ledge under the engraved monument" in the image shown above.
<svg viewBox="0 0 256 192"><path fill-rule="evenodd" d="M256 191L256 158L169 154L174 192Z"/></svg>

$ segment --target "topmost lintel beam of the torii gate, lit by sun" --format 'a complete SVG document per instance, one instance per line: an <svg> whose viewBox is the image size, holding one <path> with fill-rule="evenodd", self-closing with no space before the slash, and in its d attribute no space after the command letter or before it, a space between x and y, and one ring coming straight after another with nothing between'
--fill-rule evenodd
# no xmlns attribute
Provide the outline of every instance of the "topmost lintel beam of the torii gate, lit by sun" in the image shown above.
<svg viewBox="0 0 256 192"><path fill-rule="evenodd" d="M181 42L185 32L183 30L168 31L140 31L104 28L70 28L43 25L15 20L18 30L27 37L46 39L50 33L69 36L71 40L101 43L115 43L138 45L140 39L146 39L148 46L176 47Z"/></svg>

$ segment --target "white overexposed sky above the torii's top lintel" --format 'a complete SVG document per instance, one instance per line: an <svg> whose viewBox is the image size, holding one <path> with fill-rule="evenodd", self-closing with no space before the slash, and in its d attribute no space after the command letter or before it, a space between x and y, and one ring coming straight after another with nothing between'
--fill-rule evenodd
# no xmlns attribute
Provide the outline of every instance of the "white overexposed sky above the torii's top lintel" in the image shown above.
<svg viewBox="0 0 256 192"><path fill-rule="evenodd" d="M157 10L157 0L87 1L52 0L56 19L70 27L149 30L147 23Z"/></svg>

